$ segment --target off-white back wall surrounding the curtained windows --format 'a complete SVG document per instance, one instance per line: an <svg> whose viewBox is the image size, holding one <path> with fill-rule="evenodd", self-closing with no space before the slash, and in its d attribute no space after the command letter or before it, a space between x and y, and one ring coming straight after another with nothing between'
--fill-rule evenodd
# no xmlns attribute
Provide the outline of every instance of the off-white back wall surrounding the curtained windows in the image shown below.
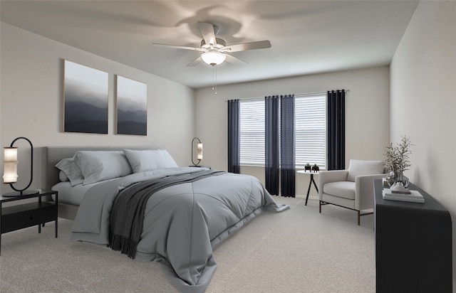
<svg viewBox="0 0 456 293"><path fill-rule="evenodd" d="M218 73L222 71L220 67ZM388 66L219 85L217 95L211 88L197 90L195 127L204 142L202 164L227 169L227 100L341 89L350 90L346 95L346 167L350 159L383 160L390 135ZM264 181L263 168L242 167L241 172ZM296 177L296 193L302 195L307 193L309 178L301 176Z"/></svg>

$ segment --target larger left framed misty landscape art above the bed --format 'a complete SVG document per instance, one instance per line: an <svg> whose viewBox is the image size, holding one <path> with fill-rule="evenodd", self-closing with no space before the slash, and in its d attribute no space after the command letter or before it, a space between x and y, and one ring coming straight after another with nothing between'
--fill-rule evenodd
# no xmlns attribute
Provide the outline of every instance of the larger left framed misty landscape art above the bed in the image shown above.
<svg viewBox="0 0 456 293"><path fill-rule="evenodd" d="M63 132L108 134L108 73L65 60Z"/></svg>

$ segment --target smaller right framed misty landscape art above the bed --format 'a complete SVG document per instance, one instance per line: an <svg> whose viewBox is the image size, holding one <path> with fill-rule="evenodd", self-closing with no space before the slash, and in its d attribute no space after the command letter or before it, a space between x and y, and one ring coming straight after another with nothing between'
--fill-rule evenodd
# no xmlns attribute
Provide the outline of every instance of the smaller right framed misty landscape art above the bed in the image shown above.
<svg viewBox="0 0 456 293"><path fill-rule="evenodd" d="M147 85L117 75L117 134L147 135Z"/></svg>

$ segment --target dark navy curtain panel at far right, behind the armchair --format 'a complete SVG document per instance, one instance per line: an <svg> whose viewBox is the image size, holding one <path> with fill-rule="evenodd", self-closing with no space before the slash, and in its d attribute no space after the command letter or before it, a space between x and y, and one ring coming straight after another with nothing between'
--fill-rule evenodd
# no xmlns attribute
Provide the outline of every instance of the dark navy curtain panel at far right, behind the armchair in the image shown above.
<svg viewBox="0 0 456 293"><path fill-rule="evenodd" d="M345 90L328 91L328 170L345 169Z"/></svg>

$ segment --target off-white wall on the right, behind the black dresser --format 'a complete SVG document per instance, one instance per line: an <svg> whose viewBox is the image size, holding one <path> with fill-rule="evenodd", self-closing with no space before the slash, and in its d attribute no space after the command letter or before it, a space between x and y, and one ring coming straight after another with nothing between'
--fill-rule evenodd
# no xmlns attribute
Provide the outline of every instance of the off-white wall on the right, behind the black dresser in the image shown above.
<svg viewBox="0 0 456 293"><path fill-rule="evenodd" d="M391 141L410 136L406 175L450 211L456 289L456 2L421 1L390 66Z"/></svg>

